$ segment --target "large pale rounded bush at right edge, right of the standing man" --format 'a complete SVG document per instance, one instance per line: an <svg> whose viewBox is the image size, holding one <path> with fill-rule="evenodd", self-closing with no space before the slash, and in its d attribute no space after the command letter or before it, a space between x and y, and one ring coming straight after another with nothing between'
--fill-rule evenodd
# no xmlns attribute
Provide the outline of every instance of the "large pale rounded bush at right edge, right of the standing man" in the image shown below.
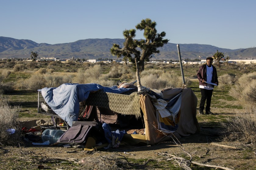
<svg viewBox="0 0 256 170"><path fill-rule="evenodd" d="M255 105L256 72L243 74L229 90L229 95L237 99L244 108ZM254 95L254 96L253 96Z"/></svg>

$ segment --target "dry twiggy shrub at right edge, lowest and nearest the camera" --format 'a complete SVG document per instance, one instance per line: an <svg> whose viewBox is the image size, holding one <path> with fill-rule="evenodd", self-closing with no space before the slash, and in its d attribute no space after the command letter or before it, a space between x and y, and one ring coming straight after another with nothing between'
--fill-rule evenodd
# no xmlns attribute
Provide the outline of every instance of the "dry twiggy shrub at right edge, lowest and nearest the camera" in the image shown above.
<svg viewBox="0 0 256 170"><path fill-rule="evenodd" d="M223 140L240 141L245 144L256 144L256 107L238 113L236 116L227 117L227 122L222 122Z"/></svg>

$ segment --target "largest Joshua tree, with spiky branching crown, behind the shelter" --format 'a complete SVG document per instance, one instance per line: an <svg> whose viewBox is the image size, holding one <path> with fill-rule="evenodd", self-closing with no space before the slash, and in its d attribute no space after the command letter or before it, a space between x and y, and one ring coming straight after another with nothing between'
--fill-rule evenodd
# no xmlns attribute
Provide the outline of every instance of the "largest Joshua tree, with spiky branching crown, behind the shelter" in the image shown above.
<svg viewBox="0 0 256 170"><path fill-rule="evenodd" d="M151 19L143 19L138 23L135 28L142 31L144 30L144 39L140 41L134 39L136 36L136 30L124 30L123 36L125 42L123 43L123 48L120 48L118 44L113 44L110 52L113 56L117 58L124 56L128 58L132 63L135 63L135 58L138 61L138 67L140 71L144 70L144 61L149 61L154 53L160 53L157 50L158 47L164 46L168 43L168 39L163 39L165 37L165 32L157 33L156 22L151 21ZM140 49L140 50L139 50Z"/></svg>

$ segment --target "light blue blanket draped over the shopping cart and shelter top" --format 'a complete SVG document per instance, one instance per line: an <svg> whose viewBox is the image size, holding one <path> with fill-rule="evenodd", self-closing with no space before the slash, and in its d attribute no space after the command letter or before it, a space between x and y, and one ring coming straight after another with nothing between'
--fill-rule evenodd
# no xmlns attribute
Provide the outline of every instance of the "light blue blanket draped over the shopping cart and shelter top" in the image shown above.
<svg viewBox="0 0 256 170"><path fill-rule="evenodd" d="M88 98L91 91L104 91L110 93L121 94L133 88L118 88L103 87L99 84L76 84L65 83L59 87L45 87L41 91L44 100L52 108L52 110L59 115L69 126L72 126L73 121L78 120L79 116L79 102Z"/></svg>

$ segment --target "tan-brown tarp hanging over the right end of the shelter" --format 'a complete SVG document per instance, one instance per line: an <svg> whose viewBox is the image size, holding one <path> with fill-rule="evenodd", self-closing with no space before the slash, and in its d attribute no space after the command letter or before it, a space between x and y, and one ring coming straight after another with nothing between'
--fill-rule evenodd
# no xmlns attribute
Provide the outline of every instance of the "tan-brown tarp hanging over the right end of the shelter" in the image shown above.
<svg viewBox="0 0 256 170"><path fill-rule="evenodd" d="M196 118L197 97L191 88L166 89L163 90L163 97L165 99L171 99L172 97L179 94L181 90L183 90L183 92L180 107L180 122L178 123L177 131L173 133L177 138L200 132L200 126ZM155 144L161 141L170 140L171 138L169 136L157 130L158 124L155 108L151 104L151 98L149 95L140 95L140 107L144 113L147 144Z"/></svg>

